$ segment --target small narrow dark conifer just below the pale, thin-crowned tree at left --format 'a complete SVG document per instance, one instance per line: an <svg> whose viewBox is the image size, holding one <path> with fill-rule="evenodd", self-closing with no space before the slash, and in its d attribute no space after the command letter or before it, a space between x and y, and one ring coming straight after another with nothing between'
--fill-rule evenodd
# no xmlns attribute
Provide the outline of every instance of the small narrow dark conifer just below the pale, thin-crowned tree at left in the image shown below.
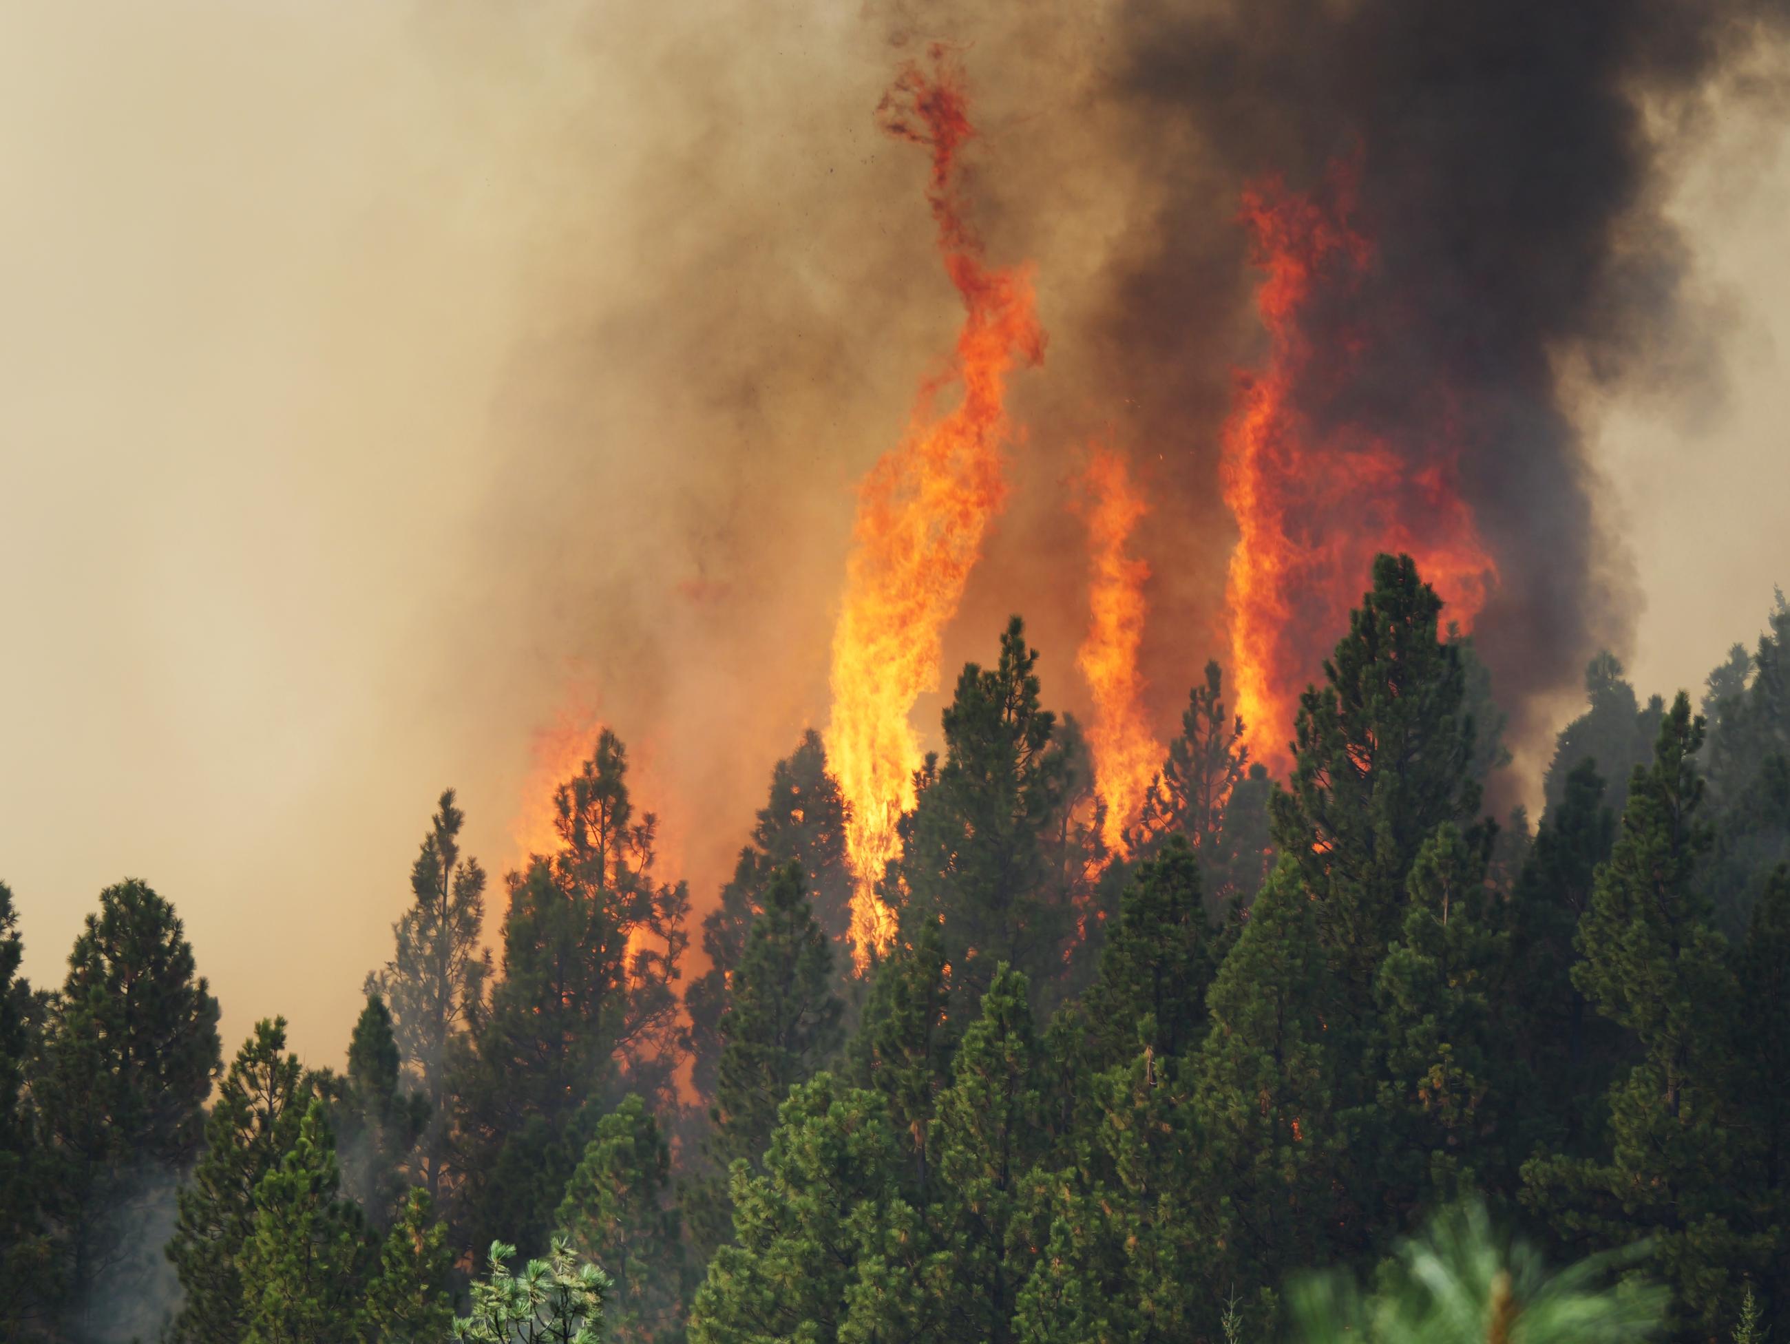
<svg viewBox="0 0 1790 1344"><path fill-rule="evenodd" d="M405 1197L405 1169L430 1119L430 1101L399 1086L397 1042L392 1015L378 993L354 1022L347 1047L347 1077L333 1106L342 1185L367 1219L392 1226Z"/></svg>

